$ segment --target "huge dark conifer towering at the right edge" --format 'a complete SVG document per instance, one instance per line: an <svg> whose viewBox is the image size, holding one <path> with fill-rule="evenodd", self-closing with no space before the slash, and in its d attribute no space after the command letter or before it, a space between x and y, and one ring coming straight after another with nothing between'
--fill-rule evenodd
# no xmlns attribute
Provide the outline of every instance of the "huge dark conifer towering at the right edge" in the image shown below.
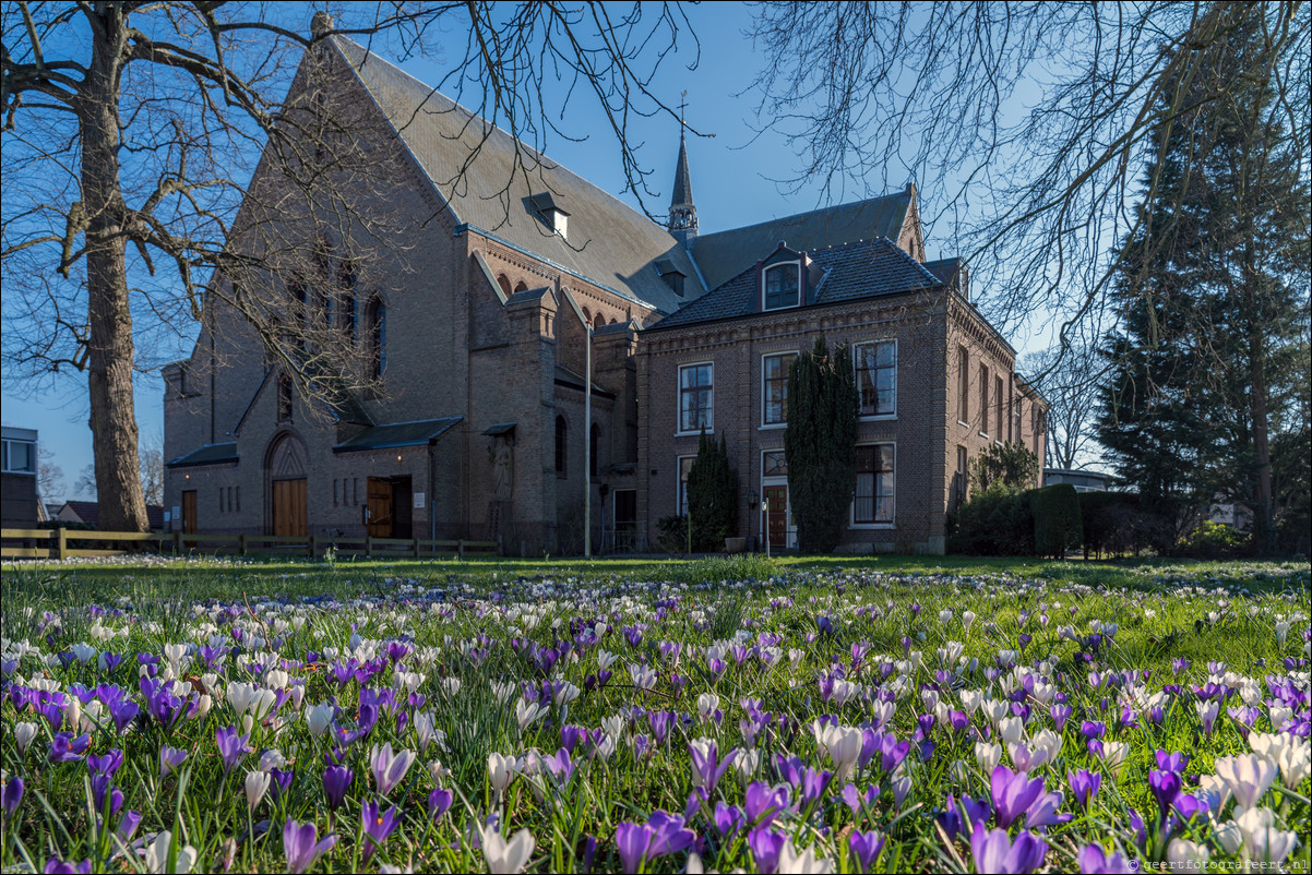
<svg viewBox="0 0 1312 875"><path fill-rule="evenodd" d="M1202 73L1211 81L1187 92L1224 98L1157 131L1115 289L1122 324L1105 353L1118 370L1099 418L1118 472L1145 497L1177 519L1218 496L1239 501L1258 552L1274 548L1281 510L1271 429L1288 420L1287 359L1307 342L1312 222L1298 153L1257 123L1274 100L1271 62L1261 33L1236 31Z"/></svg>

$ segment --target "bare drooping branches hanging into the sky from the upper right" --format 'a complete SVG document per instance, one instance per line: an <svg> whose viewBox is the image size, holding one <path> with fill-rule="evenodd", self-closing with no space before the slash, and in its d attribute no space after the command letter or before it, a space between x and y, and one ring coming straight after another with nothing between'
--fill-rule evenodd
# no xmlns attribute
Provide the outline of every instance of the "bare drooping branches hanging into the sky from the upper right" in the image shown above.
<svg viewBox="0 0 1312 875"><path fill-rule="evenodd" d="M1118 241L1143 223L1131 207L1145 160L1176 119L1229 97L1204 72L1232 35L1258 34L1242 76L1278 94L1253 125L1307 155L1309 18L1296 0L770 0L752 29L769 59L758 112L802 161L786 184L836 197L933 180L926 216L946 219L988 277L981 306L1004 327L1057 314L1067 346L1081 323L1115 317L1109 283Z"/></svg>

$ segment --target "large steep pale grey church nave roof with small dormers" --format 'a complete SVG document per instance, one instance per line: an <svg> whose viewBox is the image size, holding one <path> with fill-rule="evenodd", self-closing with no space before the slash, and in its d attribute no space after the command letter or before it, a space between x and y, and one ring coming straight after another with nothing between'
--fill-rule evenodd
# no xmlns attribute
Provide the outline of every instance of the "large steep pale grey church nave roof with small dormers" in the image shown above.
<svg viewBox="0 0 1312 875"><path fill-rule="evenodd" d="M458 223L659 312L673 312L705 291L695 281L687 252L664 227L529 146L517 144L500 127L363 46L342 37L332 39ZM461 177L484 134L487 142L478 160ZM516 151L529 167L527 180L513 172ZM508 182L509 190L501 194ZM552 202L569 213L568 243L535 215L530 198L541 193L550 193ZM676 295L652 268L661 257L689 277L685 298Z"/></svg>

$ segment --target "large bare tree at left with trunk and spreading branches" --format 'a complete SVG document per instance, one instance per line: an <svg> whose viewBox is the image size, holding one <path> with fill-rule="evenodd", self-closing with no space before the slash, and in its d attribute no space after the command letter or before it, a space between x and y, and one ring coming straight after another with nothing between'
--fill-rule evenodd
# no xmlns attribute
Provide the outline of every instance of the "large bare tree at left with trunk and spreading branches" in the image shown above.
<svg viewBox="0 0 1312 875"><path fill-rule="evenodd" d="M316 75L331 73L316 70L315 47L340 34L391 41L404 55L467 33L464 63L443 83L458 100L541 150L567 136L546 83L568 81L565 101L589 92L642 194L647 171L630 118L670 112L649 87L686 21L665 5L617 12L601 3L353 4L336 22L316 16L307 33L293 4L0 7L3 278L14 290L4 361L30 391L39 376L85 374L106 527L148 527L133 378L159 363L156 345L176 345L169 331L202 320L211 366L222 331L253 335L270 366L329 404L370 382L367 361L350 361L353 350L367 357L367 344L342 342L323 315L404 235L366 206L370 181L386 185L392 168L371 156L371 131L359 126L377 131L384 119L315 88ZM464 167L476 157L475 146ZM541 165L526 147L512 173ZM311 285L329 291L311 300Z"/></svg>

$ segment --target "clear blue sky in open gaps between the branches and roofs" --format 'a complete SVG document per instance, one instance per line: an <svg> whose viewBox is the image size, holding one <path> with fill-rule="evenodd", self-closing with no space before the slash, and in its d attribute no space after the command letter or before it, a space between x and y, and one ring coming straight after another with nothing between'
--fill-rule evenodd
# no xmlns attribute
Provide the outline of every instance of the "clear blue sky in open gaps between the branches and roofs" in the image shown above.
<svg viewBox="0 0 1312 875"><path fill-rule="evenodd" d="M660 96L672 105L680 102L680 93L687 91L689 125L714 138L691 136L687 150L693 176L693 195L703 232L740 227L770 218L791 215L824 205L816 186L791 192L773 180L794 176L796 156L774 131L757 135L761 122L756 117L757 96L749 91L757 70L762 64L760 54L743 30L750 24L750 10L732 3L711 3L689 8L701 41L701 59L695 70L687 66L695 58L691 39L681 39L678 55L661 66L657 77ZM308 20L308 14L307 14ZM463 54L463 34L453 34L453 52ZM442 58L416 59L401 64L419 79L436 83L447 72ZM562 88L563 91L563 88ZM548 100L550 100L548 94ZM556 94L559 101L563 94ZM590 97L590 96L589 96ZM559 104L558 104L559 105ZM558 122L563 130L577 135L597 131L581 142L554 139L547 153L590 180L600 188L622 197L636 206L632 194L623 193L625 176L618 147L609 132L600 109L576 94ZM668 203L678 151L678 125L669 117L639 118L634 125L635 142L643 167L653 171L648 188L659 193L648 198L647 207L663 214ZM882 194L900 189L911 178L903 168L887 171L887 186L879 190L849 190L845 199ZM922 201L933 201L935 186L946 189L946 181L917 180ZM926 210L926 213L929 213ZM942 244L949 240L946 228L926 228L926 254L938 258L947 252ZM980 278L976 278L976 286ZM140 319L142 315L139 314ZM194 332L193 332L194 335ZM1013 336L1018 349L1038 349L1042 340ZM181 358L189 346L178 348L165 358ZM67 378L62 388L24 399L22 387L7 380L3 392L3 418L7 425L35 428L41 443L54 453L51 459L64 472L64 496L72 497L72 485L79 471L91 464L91 429L87 426L87 386L83 375ZM144 443L163 436L163 382L157 373L142 376L136 388L136 415Z"/></svg>

